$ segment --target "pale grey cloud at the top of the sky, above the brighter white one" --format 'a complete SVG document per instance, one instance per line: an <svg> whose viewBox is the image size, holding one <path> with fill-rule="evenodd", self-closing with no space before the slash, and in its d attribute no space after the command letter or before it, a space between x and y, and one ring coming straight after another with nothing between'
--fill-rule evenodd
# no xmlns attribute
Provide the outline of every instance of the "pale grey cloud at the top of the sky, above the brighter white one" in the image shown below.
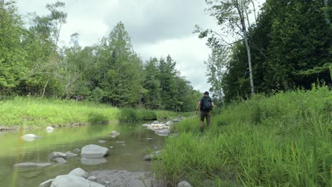
<svg viewBox="0 0 332 187"><path fill-rule="evenodd" d="M118 10L110 12L105 22L115 26L122 21L131 36L138 43L157 42L182 38L194 31L195 24L206 23L205 1L155 0L121 1ZM135 8L133 8L133 5Z"/></svg>

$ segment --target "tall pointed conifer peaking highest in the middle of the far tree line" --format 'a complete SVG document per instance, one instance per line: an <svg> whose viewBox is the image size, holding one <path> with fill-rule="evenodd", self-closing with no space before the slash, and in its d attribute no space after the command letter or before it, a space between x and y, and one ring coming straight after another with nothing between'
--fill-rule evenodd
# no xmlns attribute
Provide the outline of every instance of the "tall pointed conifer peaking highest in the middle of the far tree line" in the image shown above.
<svg viewBox="0 0 332 187"><path fill-rule="evenodd" d="M143 92L143 63L133 51L123 23L101 40L97 53L97 79L105 91L104 101L114 106L138 105Z"/></svg>

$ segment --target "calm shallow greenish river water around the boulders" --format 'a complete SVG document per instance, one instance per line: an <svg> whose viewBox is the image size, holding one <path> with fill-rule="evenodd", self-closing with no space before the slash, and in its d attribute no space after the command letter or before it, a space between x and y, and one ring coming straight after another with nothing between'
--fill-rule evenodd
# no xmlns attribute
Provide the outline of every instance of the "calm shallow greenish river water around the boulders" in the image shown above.
<svg viewBox="0 0 332 187"><path fill-rule="evenodd" d="M111 137L109 132L120 132ZM21 136L34 134L42 138L32 142ZM99 143L98 140L105 140ZM43 169L14 169L13 164L21 162L45 163L51 152L72 152L85 145L99 145L109 149L109 156L101 164L87 165L78 155L67 159L65 164L52 163ZM55 128L51 133L45 128L0 132L0 186L38 186L57 175L68 174L80 167L84 171L126 170L149 171L151 163L143 157L150 151L162 149L165 137L155 135L142 123L119 123L109 125L85 125L79 128Z"/></svg>

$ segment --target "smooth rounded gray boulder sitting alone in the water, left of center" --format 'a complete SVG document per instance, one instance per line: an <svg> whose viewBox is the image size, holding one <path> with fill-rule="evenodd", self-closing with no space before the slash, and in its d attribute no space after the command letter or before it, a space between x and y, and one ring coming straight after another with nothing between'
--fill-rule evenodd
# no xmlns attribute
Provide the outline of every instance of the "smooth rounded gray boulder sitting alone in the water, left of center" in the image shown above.
<svg viewBox="0 0 332 187"><path fill-rule="evenodd" d="M85 158L102 158L109 154L109 149L99 145L86 145L82 148L81 157Z"/></svg>

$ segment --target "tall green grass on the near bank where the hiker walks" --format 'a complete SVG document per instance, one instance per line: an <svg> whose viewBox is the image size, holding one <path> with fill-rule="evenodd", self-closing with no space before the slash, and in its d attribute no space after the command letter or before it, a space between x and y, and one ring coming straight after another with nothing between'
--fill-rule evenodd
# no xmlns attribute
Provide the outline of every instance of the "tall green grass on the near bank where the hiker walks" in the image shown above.
<svg viewBox="0 0 332 187"><path fill-rule="evenodd" d="M255 96L175 126L153 171L167 186L332 186L332 92Z"/></svg>

